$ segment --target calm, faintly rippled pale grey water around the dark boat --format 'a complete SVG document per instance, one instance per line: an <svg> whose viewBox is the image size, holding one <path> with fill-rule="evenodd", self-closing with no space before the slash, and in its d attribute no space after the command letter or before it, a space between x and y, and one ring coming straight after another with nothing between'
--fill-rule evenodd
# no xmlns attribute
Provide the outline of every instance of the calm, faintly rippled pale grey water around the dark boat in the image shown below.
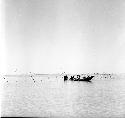
<svg viewBox="0 0 125 118"><path fill-rule="evenodd" d="M7 82L8 81L8 82ZM35 81L35 82L34 82ZM125 117L125 79L64 82L61 77L6 77L2 116Z"/></svg>

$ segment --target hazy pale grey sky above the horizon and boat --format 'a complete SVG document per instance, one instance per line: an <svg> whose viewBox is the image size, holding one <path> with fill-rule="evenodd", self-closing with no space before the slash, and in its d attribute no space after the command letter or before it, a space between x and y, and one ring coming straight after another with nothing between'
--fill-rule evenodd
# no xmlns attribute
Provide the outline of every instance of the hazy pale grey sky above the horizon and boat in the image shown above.
<svg viewBox="0 0 125 118"><path fill-rule="evenodd" d="M125 0L4 0L7 73L125 72Z"/></svg>

